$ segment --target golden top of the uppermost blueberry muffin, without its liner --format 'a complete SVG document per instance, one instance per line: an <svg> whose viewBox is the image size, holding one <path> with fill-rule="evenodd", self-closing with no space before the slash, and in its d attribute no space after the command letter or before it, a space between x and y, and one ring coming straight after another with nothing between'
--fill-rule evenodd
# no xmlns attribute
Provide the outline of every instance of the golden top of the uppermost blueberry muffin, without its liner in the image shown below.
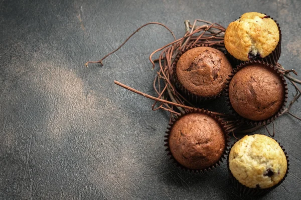
<svg viewBox="0 0 301 200"><path fill-rule="evenodd" d="M227 51L244 61L267 56L276 48L278 41L276 22L258 12L246 12L231 22L224 38Z"/></svg>

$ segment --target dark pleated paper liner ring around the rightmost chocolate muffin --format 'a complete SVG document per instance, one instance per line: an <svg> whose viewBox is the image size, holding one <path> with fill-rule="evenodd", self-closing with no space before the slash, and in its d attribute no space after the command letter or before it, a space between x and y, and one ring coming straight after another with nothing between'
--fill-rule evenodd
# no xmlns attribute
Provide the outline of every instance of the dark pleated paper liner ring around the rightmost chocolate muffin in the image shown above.
<svg viewBox="0 0 301 200"><path fill-rule="evenodd" d="M273 116L267 118L267 119L264 119L264 120L251 120L251 119L247 119L243 116L240 116L235 110L234 108L232 107L231 105L231 102L230 102L230 98L229 98L229 84L230 84L230 81L232 80L233 76L237 73L237 71L239 71L241 68L245 67L245 66L248 66L248 65L251 65L251 64L263 64L267 67L270 67L272 68L273 70L275 70L279 76L281 77L282 79L282 82L283 82L283 85L284 85L284 88L285 88L285 91L284 91L284 100L283 100L283 104L281 106L281 108L278 110L278 112L276 114L274 114ZM284 78L284 76L280 73L280 71L275 68L274 65L272 64L269 64L269 63L266 63L264 61L260 61L260 60L250 60L250 61L245 61L243 63L240 63L240 65L237 65L236 68L234 68L233 72L231 75L229 75L229 78L227 79L228 81L226 82L226 91L225 91L225 95L226 95L226 102L228 104L228 106L230 107L230 110L232 111L233 114L235 114L237 116L238 119L246 122L247 124L249 125L252 125L252 126L257 126L257 125L264 125L264 124L269 124L271 121L275 120L275 118L277 118L278 116L280 116L281 112L285 109L285 105L286 105L286 102L287 102L287 96L288 96L288 87L287 87L287 83L286 83L286 80Z"/></svg>

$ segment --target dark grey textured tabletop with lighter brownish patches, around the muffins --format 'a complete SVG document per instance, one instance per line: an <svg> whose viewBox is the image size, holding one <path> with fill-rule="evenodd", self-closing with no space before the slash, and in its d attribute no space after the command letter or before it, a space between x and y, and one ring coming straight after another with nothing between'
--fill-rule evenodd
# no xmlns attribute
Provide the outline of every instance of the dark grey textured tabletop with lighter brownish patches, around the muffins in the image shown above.
<svg viewBox="0 0 301 200"><path fill-rule="evenodd" d="M148 55L172 41L168 31L149 25L103 67L83 64L149 21L179 38L185 19L227 26L259 11L280 23L279 62L301 73L300 10L299 0L0 0L0 199L245 199L225 163L205 175L176 168L163 141L168 113L113 84L154 94ZM284 115L275 131L290 172L262 199L300 199L300 122Z"/></svg>

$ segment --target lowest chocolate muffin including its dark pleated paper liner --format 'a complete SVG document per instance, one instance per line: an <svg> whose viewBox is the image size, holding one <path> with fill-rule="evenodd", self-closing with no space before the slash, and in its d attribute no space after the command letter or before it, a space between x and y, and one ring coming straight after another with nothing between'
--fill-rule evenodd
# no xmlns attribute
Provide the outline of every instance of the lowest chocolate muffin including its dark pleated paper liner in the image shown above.
<svg viewBox="0 0 301 200"><path fill-rule="evenodd" d="M173 119L164 140L170 158L181 169L203 173L225 159L229 136L225 122L204 109L187 110Z"/></svg>

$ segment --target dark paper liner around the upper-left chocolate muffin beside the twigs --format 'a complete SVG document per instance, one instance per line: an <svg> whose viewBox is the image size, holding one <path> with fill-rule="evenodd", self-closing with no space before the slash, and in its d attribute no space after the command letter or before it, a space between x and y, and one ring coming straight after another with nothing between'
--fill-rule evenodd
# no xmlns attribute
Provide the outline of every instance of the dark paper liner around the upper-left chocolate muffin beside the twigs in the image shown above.
<svg viewBox="0 0 301 200"><path fill-rule="evenodd" d="M177 63L179 58L181 57L181 55L183 53L185 53L187 50L195 48L195 47L200 47L200 46L206 46L206 47L212 47L212 48L216 48L217 50L220 50L222 52L225 53L226 57L228 58L227 53L223 50L223 48L219 48L216 47L214 45L208 45L208 44L198 44L198 45L194 45L194 46L190 46L189 48L185 48L183 51L181 51L177 57L175 58L174 63L172 64L172 77L173 77L173 82L175 83L176 87L180 90L180 92L187 98L187 100L189 100L192 103L203 103L206 102L207 100L211 100L211 99L216 99L218 97L220 97L224 92L225 92L225 88L217 95L213 95L213 96L200 96L194 93L191 93L189 90L187 90L178 80L177 74L176 74L176 67L177 67ZM230 60L229 60L230 61ZM230 61L231 65L232 62ZM233 65L232 65L233 66Z"/></svg>

